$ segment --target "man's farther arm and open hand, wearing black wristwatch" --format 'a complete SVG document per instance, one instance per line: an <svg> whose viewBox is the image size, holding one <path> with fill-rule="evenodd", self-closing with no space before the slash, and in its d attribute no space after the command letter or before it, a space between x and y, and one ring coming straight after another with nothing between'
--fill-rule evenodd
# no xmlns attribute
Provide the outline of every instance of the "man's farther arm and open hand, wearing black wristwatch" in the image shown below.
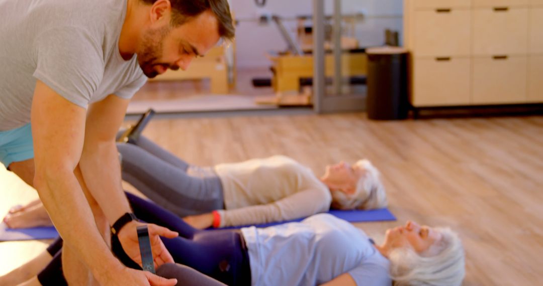
<svg viewBox="0 0 543 286"><path fill-rule="evenodd" d="M125 212L130 212L127 197L121 185L121 165L115 145L115 137L124 120L128 100L109 95L89 107L85 128L85 143L79 167L87 190L97 201L109 224L112 225ZM123 249L141 265L140 248L137 244L135 221L125 225L118 233ZM173 263L159 236L175 237L176 232L165 227L149 225L151 248L157 266Z"/></svg>

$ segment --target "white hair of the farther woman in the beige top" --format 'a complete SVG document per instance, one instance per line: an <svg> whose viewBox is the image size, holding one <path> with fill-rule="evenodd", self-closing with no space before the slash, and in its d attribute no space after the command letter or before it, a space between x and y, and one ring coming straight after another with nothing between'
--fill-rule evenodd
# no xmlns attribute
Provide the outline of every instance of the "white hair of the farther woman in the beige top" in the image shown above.
<svg viewBox="0 0 543 286"><path fill-rule="evenodd" d="M377 168L367 159L359 160L355 166L365 169L367 172L356 184L353 194L345 194L340 191L332 192L332 207L340 210L372 210L387 206L387 194L380 180Z"/></svg>

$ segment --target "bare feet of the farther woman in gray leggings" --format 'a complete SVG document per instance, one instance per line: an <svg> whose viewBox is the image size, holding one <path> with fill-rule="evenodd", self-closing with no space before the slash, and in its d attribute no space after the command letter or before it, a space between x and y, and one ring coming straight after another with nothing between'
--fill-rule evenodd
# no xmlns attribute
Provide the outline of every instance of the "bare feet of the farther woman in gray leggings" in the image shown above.
<svg viewBox="0 0 543 286"><path fill-rule="evenodd" d="M14 213L8 213L4 217L4 223L10 229L23 229L26 227L51 226L53 223L49 214L41 202L30 207L23 207Z"/></svg>

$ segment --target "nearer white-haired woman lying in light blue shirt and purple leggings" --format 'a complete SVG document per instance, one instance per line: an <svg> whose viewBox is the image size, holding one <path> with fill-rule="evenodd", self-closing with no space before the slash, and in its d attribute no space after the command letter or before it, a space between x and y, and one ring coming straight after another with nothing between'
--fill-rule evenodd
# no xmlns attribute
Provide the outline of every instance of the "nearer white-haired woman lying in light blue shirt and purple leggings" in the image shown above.
<svg viewBox="0 0 543 286"><path fill-rule="evenodd" d="M462 283L465 274L462 242L448 228L408 221L387 230L380 245L361 229L325 213L266 228L197 230L151 201L128 198L138 218L179 232L179 237L162 238L176 263L228 285L454 286ZM113 244L113 251L123 263L139 267L119 244ZM43 281L62 285L59 259L56 253L47 268L25 285ZM175 267L169 268L158 273L182 283ZM198 286L217 285L209 279L191 281Z"/></svg>

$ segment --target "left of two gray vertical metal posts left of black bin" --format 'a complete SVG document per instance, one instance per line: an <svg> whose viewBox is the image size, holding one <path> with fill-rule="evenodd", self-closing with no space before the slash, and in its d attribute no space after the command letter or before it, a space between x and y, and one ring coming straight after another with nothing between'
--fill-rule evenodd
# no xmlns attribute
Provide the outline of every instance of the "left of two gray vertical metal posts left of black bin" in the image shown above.
<svg viewBox="0 0 543 286"><path fill-rule="evenodd" d="M323 111L324 79L324 0L313 0L313 109Z"/></svg>

